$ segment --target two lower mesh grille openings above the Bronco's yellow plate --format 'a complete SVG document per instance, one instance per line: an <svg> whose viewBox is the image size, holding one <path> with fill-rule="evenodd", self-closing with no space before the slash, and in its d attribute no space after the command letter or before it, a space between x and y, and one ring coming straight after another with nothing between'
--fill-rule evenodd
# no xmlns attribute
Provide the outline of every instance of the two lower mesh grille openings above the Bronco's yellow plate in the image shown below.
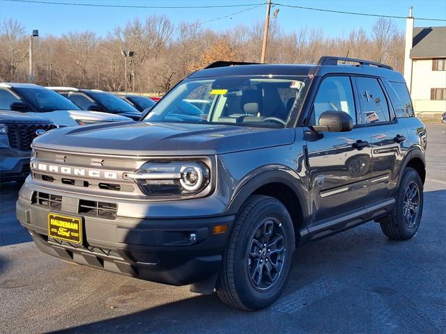
<svg viewBox="0 0 446 334"><path fill-rule="evenodd" d="M62 196L34 191L31 202L33 205L40 207L63 211ZM117 211L118 205L116 203L100 202L98 200L79 200L79 205L77 205L77 214L82 214L82 216L114 219Z"/></svg>

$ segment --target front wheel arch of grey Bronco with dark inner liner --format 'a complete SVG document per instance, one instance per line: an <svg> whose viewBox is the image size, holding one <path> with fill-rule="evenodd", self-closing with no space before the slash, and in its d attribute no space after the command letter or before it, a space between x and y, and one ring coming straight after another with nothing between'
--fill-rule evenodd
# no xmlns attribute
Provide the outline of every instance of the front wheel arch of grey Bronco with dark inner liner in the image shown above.
<svg viewBox="0 0 446 334"><path fill-rule="evenodd" d="M300 230L308 217L308 195L300 178L282 170L270 170L247 181L231 200L227 212L236 214L252 195L270 196L282 202L288 210L295 231L295 244L299 243Z"/></svg>

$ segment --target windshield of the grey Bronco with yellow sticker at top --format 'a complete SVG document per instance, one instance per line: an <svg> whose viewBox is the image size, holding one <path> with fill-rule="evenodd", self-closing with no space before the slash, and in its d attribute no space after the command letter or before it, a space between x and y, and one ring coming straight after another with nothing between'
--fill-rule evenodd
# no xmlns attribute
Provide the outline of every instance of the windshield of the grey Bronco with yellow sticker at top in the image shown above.
<svg viewBox="0 0 446 334"><path fill-rule="evenodd" d="M145 122L284 127L300 109L308 77L186 79L157 102Z"/></svg>

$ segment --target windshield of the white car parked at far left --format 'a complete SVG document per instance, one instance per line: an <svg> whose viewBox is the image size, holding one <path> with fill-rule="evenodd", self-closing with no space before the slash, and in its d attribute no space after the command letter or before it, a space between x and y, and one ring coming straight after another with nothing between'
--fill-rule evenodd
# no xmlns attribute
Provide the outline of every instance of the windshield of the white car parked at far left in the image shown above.
<svg viewBox="0 0 446 334"><path fill-rule="evenodd" d="M59 93L47 88L14 88L14 90L39 113L55 110L80 110Z"/></svg>

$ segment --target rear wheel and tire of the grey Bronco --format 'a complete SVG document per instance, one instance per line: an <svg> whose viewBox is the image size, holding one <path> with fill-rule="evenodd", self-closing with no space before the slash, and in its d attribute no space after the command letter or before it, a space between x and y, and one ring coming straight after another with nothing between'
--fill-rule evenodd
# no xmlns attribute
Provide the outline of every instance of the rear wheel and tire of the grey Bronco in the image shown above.
<svg viewBox="0 0 446 334"><path fill-rule="evenodd" d="M380 218L381 230L392 240L408 240L420 226L423 213L423 182L413 168L406 168L389 216Z"/></svg>

